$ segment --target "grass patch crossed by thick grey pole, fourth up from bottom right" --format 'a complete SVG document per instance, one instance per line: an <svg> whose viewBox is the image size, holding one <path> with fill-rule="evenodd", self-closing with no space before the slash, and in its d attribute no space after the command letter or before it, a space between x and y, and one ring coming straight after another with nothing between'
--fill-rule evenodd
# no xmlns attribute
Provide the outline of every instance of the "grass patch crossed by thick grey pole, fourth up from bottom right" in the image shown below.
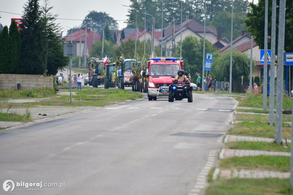
<svg viewBox="0 0 293 195"><path fill-rule="evenodd" d="M275 137L275 126L268 125L268 122L241 122L228 130L229 135L254 136L254 137ZM282 137L291 138L289 124L283 123Z"/></svg>

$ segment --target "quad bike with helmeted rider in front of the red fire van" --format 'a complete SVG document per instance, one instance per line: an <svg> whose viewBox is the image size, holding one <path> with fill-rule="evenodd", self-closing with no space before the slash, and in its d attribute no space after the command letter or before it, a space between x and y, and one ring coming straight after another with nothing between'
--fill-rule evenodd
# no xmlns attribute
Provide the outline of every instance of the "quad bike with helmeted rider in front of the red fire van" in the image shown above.
<svg viewBox="0 0 293 195"><path fill-rule="evenodd" d="M184 72L183 70L181 71ZM189 78L188 72L185 72L185 76ZM175 78L175 76L173 76L172 78ZM183 98L187 98L188 102L193 101L192 86L190 85L190 81L188 79L174 79L173 82L170 84L168 93L169 102L174 102L174 98L175 100L182 100Z"/></svg>

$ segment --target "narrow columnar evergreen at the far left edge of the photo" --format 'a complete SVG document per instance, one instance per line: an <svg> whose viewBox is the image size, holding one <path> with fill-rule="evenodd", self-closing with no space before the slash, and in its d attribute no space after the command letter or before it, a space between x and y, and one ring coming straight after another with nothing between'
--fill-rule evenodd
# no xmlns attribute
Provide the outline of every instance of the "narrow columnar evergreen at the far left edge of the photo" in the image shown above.
<svg viewBox="0 0 293 195"><path fill-rule="evenodd" d="M0 73L7 74L9 70L9 34L8 27L4 26L0 34Z"/></svg>

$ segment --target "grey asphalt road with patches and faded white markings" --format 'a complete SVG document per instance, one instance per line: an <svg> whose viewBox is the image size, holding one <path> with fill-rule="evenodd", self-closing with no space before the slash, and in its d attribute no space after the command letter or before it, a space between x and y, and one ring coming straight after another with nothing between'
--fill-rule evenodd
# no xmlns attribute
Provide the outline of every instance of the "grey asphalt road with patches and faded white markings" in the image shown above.
<svg viewBox="0 0 293 195"><path fill-rule="evenodd" d="M217 165L235 108L221 95L193 94L192 103L145 97L0 131L0 183L14 182L7 194L190 194L206 186L198 178L211 152ZM65 186L28 192L40 188L16 182Z"/></svg>

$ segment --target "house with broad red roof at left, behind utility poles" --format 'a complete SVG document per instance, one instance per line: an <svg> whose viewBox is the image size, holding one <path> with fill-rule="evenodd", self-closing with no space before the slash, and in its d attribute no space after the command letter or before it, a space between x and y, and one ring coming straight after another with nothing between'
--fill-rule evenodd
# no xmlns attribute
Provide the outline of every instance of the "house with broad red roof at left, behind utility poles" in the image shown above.
<svg viewBox="0 0 293 195"><path fill-rule="evenodd" d="M94 36L95 35L95 36ZM100 40L101 35L98 33L94 33L91 29L81 28L81 30L75 31L74 33L66 35L62 37L68 42L76 43L76 50L78 56L84 56L84 46L86 40L86 56L88 56L89 52L91 52L91 46L93 45L94 41L98 42ZM86 38L85 38L86 37ZM94 40L95 39L95 40ZM80 41L81 40L81 41Z"/></svg>

